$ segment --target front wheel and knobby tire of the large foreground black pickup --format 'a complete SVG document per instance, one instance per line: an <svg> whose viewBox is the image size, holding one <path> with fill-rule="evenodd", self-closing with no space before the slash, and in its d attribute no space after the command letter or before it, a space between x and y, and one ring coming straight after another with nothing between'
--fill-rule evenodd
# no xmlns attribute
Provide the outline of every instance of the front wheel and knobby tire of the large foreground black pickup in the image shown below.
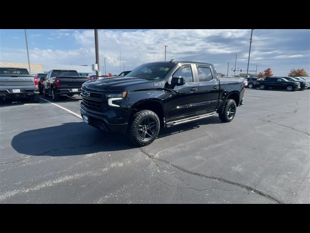
<svg viewBox="0 0 310 233"><path fill-rule="evenodd" d="M151 144L157 137L160 121L155 112L142 110L133 116L129 123L127 136L138 147Z"/></svg>

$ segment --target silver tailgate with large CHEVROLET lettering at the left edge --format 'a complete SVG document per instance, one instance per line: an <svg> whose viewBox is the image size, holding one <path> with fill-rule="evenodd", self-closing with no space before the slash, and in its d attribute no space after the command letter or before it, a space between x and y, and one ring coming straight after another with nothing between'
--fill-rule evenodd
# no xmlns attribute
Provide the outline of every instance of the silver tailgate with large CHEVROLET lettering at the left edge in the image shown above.
<svg viewBox="0 0 310 233"><path fill-rule="evenodd" d="M35 89L34 75L0 75L0 89Z"/></svg>

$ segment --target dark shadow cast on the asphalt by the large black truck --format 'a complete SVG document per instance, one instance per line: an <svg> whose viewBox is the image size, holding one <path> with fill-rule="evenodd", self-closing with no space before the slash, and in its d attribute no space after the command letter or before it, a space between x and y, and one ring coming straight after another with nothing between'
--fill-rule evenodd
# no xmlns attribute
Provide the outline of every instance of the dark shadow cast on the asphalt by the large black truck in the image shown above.
<svg viewBox="0 0 310 233"><path fill-rule="evenodd" d="M194 130L204 124L218 123L221 121L218 117L213 116L163 129L158 138ZM156 140L153 143L156 143ZM35 156L84 155L101 151L137 148L123 133L102 132L84 122L64 123L58 126L25 131L13 137L11 146L18 153Z"/></svg>

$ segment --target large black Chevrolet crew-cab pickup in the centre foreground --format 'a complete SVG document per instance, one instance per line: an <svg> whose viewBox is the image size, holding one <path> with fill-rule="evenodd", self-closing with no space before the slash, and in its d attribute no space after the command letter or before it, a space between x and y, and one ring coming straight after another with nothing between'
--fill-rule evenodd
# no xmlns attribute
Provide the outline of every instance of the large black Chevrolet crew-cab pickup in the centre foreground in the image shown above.
<svg viewBox="0 0 310 233"><path fill-rule="evenodd" d="M83 120L99 129L127 133L137 146L152 143L160 128L214 116L233 120L242 104L243 80L221 80L201 62L143 64L124 78L83 83Z"/></svg>

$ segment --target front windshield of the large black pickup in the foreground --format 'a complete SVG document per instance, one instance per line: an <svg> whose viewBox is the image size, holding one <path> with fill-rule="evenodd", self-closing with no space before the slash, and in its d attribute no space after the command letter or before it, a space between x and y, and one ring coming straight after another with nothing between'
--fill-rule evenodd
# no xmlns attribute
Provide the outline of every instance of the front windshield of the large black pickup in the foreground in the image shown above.
<svg viewBox="0 0 310 233"><path fill-rule="evenodd" d="M174 67L174 63L149 63L135 68L127 77L136 77L139 79L158 80L162 79L167 72Z"/></svg>

